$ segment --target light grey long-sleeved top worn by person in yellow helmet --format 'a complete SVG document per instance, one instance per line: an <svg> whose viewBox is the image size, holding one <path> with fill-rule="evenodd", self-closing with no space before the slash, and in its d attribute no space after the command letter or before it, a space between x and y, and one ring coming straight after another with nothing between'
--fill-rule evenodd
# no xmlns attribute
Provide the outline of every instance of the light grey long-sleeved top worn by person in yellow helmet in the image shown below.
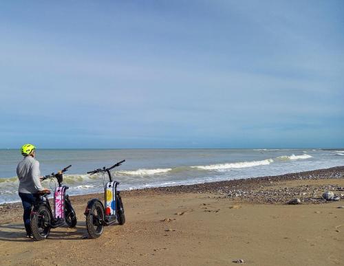
<svg viewBox="0 0 344 266"><path fill-rule="evenodd" d="M17 166L17 175L19 178L19 192L36 193L43 190L39 177L39 161L32 156L26 156Z"/></svg>

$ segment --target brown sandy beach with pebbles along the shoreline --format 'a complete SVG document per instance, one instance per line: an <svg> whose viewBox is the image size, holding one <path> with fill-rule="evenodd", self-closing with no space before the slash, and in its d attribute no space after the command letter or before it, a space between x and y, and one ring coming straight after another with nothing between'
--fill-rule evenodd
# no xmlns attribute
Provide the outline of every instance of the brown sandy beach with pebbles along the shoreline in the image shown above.
<svg viewBox="0 0 344 266"><path fill-rule="evenodd" d="M325 201L332 190L341 201ZM20 203L0 206L1 265L344 265L344 166L122 192L125 225L87 235L87 200L72 197L76 228L24 238ZM301 204L288 205L299 198Z"/></svg>

